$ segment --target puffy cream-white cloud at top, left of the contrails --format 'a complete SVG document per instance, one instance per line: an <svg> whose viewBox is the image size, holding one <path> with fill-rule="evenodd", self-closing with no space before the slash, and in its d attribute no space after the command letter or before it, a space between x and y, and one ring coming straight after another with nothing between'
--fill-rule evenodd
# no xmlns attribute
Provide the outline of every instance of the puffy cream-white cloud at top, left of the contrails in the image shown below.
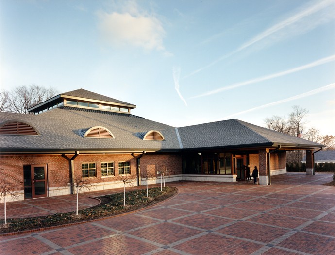
<svg viewBox="0 0 335 255"><path fill-rule="evenodd" d="M136 3L125 3L122 12L101 11L98 17L101 37L108 44L166 52L163 44L166 32L161 21L154 14L141 11Z"/></svg>

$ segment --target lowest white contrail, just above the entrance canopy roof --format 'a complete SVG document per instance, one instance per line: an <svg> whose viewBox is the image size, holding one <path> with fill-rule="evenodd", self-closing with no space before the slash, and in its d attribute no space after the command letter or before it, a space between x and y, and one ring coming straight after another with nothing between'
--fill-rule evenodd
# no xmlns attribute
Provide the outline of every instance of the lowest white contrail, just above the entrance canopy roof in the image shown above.
<svg viewBox="0 0 335 255"><path fill-rule="evenodd" d="M232 118L232 117L234 117L236 115L241 115L241 114L244 114L244 113L249 113L249 112L252 112L252 111L255 111L255 110L267 108L269 106L281 104L281 103L284 103L284 102L289 102L289 101L298 100L298 99L301 99L301 98L304 98L304 97L309 97L309 96L312 96L312 95L315 95L315 94L318 94L318 93L321 93L321 92L324 92L324 91L327 91L327 90L330 90L330 89L334 89L334 88L335 88L335 83L331 83L331 84L328 84L326 86L319 87L319 88L310 90L308 92L305 92L305 93L302 93L302 94L299 94L299 95L296 95L296 96L293 96L293 97L282 99L282 100L279 100L279 101L276 101L276 102L271 102L271 103L263 104L261 106L257 106L257 107L254 107L254 108L251 108L251 109L248 109L248 110L245 110L245 111L234 113L232 115L226 116L226 119L230 119L230 118Z"/></svg>

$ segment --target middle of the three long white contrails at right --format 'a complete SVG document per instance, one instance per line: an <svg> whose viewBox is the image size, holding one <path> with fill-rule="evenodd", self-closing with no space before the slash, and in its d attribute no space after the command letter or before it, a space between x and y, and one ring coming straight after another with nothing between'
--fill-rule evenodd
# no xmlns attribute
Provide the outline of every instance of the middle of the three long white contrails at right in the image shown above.
<svg viewBox="0 0 335 255"><path fill-rule="evenodd" d="M328 63L328 62L331 62L331 61L334 61L334 60L335 60L335 54L331 55L329 57L321 58L317 61L314 61L314 62L309 63L307 65L303 65L301 67L292 68L292 69L288 69L288 70L285 70L285 71L282 71L282 72L269 74L267 76L255 78L255 79L245 81L245 82L235 83L235 84L228 85L228 86L225 86L225 87L222 87L222 88L218 88L218 89L208 91L208 92L200 94L198 96L190 97L189 99L209 96L209 95L217 94L219 92L229 90L229 89L233 89L233 88L236 88L236 87L241 87L241 86L245 86L245 85L249 85L249 84L253 84L253 83L257 83L257 82L266 81L266 80L273 79L273 78L276 78L276 77L284 76L286 74L290 74L290 73L298 72L298 71L305 70L305 69L308 69L308 68L313 68L313 67L316 67L316 66L319 66L319 65L323 65L325 63Z"/></svg>

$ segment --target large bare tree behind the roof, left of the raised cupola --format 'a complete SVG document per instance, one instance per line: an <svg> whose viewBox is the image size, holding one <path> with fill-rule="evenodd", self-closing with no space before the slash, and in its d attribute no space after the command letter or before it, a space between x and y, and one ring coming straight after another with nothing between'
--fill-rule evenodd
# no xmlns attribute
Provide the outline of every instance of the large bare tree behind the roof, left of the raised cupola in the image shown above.
<svg viewBox="0 0 335 255"><path fill-rule="evenodd" d="M8 93L8 107L3 111L14 113L28 113L28 109L44 102L57 94L53 88L44 88L38 85L19 86Z"/></svg>

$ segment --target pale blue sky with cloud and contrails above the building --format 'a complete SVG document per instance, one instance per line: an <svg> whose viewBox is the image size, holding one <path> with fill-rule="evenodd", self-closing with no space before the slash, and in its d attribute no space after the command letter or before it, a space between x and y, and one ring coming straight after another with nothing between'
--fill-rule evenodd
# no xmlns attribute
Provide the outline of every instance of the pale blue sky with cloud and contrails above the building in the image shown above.
<svg viewBox="0 0 335 255"><path fill-rule="evenodd" d="M292 106L335 136L335 0L1 0L1 89L79 88L175 127L264 126Z"/></svg>

